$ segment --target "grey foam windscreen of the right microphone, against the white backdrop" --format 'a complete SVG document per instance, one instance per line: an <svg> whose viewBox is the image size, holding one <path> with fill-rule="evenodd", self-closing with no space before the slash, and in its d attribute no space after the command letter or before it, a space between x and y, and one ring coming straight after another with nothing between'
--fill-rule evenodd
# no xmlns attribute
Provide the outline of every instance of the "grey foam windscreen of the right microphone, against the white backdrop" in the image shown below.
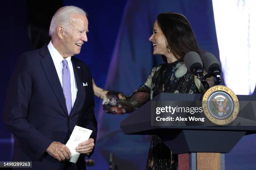
<svg viewBox="0 0 256 170"><path fill-rule="evenodd" d="M210 52L205 52L201 55L202 62L204 63L205 71L209 72L211 67L220 68L220 62L218 59Z"/></svg>

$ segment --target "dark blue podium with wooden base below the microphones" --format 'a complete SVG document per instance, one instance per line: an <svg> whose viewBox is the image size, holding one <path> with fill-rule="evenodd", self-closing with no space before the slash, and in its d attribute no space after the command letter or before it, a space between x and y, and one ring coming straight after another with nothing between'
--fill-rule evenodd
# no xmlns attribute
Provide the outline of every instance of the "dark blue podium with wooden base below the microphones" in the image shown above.
<svg viewBox="0 0 256 170"><path fill-rule="evenodd" d="M121 122L125 134L158 135L172 153L178 154L179 170L221 170L221 154L238 141L256 133L256 105L252 97L238 95L240 111L229 126L151 126L151 102L200 101L202 94L160 93ZM207 119L207 118L205 118ZM250 126L243 125L250 122ZM208 121L208 120L206 120Z"/></svg>

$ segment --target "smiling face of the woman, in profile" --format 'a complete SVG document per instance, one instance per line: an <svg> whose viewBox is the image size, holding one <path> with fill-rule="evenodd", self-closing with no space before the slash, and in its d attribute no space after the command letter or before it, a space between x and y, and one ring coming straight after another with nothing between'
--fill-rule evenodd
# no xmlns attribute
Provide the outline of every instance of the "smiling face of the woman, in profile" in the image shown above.
<svg viewBox="0 0 256 170"><path fill-rule="evenodd" d="M154 55L166 55L166 48L168 46L168 43L166 37L164 36L164 33L162 32L157 23L157 20L154 23L153 34L151 35L151 37L149 37L148 40L152 42Z"/></svg>

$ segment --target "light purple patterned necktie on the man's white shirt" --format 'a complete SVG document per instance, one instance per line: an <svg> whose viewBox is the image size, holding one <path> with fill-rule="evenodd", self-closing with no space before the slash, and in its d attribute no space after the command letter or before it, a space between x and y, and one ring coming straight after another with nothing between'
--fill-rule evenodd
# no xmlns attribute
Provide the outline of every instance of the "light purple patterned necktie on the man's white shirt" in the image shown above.
<svg viewBox="0 0 256 170"><path fill-rule="evenodd" d="M70 84L70 71L67 64L67 60L62 60L62 84L63 84L63 93L66 99L67 110L70 115L72 110L72 95L71 95L71 84Z"/></svg>

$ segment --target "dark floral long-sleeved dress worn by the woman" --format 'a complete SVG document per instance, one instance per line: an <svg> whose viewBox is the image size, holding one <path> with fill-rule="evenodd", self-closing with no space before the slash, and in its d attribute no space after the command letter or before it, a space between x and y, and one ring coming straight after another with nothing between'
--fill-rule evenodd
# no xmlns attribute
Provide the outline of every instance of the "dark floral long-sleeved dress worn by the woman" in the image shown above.
<svg viewBox="0 0 256 170"><path fill-rule="evenodd" d="M207 82L213 85L212 78ZM160 64L154 67L146 82L130 96L122 92L109 91L103 100L103 110L116 115L132 112L161 92L201 93L205 92L200 80L187 71L183 62ZM146 170L175 170L173 154L157 135L152 136Z"/></svg>

